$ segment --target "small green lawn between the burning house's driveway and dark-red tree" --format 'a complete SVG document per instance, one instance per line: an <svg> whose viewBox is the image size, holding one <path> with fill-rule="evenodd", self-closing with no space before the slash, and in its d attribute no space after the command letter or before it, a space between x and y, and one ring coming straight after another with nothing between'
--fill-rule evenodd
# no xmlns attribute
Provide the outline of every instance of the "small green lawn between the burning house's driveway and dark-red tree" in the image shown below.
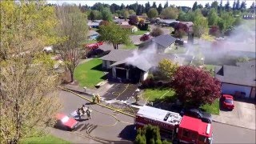
<svg viewBox="0 0 256 144"><path fill-rule="evenodd" d="M143 92L143 98L148 101L154 101L159 98L173 97L175 94L174 90L170 89L146 89Z"/></svg>

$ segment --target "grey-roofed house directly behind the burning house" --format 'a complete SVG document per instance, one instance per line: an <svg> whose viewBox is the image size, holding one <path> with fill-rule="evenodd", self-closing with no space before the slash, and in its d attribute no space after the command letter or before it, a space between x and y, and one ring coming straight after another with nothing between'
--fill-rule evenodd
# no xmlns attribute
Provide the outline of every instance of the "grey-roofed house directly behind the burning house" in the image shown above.
<svg viewBox="0 0 256 144"><path fill-rule="evenodd" d="M166 50L171 50L174 48L176 40L177 38L170 36L170 34L160 35L141 43L138 48L143 50L155 44L157 53L164 53Z"/></svg>

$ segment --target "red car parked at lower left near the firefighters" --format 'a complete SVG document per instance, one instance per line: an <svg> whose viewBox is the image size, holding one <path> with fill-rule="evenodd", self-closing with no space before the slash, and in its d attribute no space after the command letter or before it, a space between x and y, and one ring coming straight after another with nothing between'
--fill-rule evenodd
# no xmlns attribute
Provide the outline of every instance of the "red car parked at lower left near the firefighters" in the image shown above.
<svg viewBox="0 0 256 144"><path fill-rule="evenodd" d="M78 121L74 118L69 118L65 114L57 114L56 118L57 122L55 127L59 129L72 131L78 126Z"/></svg>

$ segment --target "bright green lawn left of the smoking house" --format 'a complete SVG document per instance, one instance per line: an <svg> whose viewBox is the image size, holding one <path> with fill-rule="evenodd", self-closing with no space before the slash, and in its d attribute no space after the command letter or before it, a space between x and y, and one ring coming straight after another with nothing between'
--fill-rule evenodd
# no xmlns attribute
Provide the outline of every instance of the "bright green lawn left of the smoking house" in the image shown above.
<svg viewBox="0 0 256 144"><path fill-rule="evenodd" d="M94 58L89 62L84 62L74 70L74 79L79 82L79 86L93 88L98 82L104 81L102 72L102 60Z"/></svg>

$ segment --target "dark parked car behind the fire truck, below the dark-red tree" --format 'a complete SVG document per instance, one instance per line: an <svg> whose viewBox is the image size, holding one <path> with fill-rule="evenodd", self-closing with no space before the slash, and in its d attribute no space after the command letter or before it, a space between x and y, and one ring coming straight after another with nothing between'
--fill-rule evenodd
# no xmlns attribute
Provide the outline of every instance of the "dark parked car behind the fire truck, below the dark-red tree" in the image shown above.
<svg viewBox="0 0 256 144"><path fill-rule="evenodd" d="M185 110L182 110L181 115L186 115L193 118L199 118L202 120L202 122L207 122L207 123L212 122L211 114L203 112L202 110L199 110L199 109L185 109Z"/></svg>

